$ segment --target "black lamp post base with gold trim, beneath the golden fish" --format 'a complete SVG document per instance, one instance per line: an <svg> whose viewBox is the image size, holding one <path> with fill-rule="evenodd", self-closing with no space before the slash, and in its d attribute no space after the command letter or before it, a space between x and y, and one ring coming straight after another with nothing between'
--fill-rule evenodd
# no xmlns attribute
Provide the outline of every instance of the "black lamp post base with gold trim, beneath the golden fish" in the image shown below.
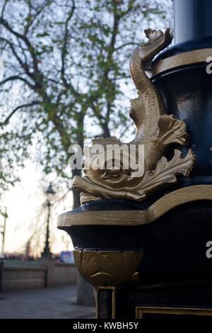
<svg viewBox="0 0 212 333"><path fill-rule="evenodd" d="M148 208L113 200L102 210L105 201L95 201L59 216L59 229L71 235L79 272L97 290L98 318L141 317L146 303L155 307L159 300L172 306L178 289L177 309L199 305L199 295L206 293L203 281L212 273L206 258L211 203L212 185L190 186L153 204L150 198ZM191 294L198 290L186 300L182 290L188 285ZM209 296L202 305L208 302Z"/></svg>

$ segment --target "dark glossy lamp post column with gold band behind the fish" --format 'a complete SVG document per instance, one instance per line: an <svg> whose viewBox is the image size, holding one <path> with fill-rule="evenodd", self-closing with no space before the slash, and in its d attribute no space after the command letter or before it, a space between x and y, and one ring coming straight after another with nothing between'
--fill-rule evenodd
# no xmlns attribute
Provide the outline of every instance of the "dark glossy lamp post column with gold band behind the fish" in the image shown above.
<svg viewBox="0 0 212 333"><path fill-rule="evenodd" d="M175 0L175 45L156 57L152 81L168 113L183 120L196 155L190 179L179 186L212 184L212 1Z"/></svg>

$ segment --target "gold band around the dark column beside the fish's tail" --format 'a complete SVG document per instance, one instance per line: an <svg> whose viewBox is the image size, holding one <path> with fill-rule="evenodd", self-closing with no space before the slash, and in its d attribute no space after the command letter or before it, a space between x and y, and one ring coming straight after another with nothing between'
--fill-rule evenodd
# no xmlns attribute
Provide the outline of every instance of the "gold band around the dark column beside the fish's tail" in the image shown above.
<svg viewBox="0 0 212 333"><path fill-rule="evenodd" d="M206 59L211 57L212 48L205 48L201 50L193 50L189 52L180 53L179 55L172 55L172 57L167 57L163 60L153 63L151 70L148 71L148 77L154 77L157 74L165 72L169 69L206 63Z"/></svg>

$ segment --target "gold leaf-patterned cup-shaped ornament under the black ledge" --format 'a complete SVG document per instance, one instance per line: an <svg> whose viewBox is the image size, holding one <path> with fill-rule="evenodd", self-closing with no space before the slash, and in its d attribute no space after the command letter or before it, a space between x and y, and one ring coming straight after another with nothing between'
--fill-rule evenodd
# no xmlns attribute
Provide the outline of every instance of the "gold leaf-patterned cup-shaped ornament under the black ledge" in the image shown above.
<svg viewBox="0 0 212 333"><path fill-rule="evenodd" d="M119 286L139 281L136 272L142 251L95 251L74 249L75 264L81 276L93 286Z"/></svg>

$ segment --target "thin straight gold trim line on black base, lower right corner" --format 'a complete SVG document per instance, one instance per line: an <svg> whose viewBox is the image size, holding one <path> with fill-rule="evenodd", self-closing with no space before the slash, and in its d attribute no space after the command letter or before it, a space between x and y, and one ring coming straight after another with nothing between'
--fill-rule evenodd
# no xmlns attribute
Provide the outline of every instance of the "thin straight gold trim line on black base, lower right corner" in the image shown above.
<svg viewBox="0 0 212 333"><path fill-rule="evenodd" d="M212 309L201 307L136 307L136 319L143 319L145 314L212 316Z"/></svg>

